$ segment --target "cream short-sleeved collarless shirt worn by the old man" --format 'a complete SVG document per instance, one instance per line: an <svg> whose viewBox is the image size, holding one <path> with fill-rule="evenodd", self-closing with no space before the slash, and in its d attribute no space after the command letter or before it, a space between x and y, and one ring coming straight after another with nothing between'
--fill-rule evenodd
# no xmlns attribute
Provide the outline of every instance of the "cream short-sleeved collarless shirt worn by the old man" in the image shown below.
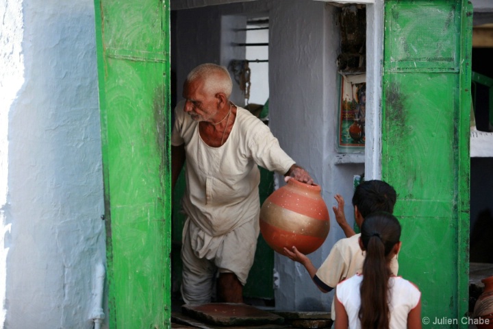
<svg viewBox="0 0 493 329"><path fill-rule="evenodd" d="M286 173L294 161L279 147L268 127L243 108L238 108L225 144L210 147L202 141L198 122L183 107L181 101L175 110L171 145L185 143L185 212L212 236L257 219L260 209L257 164Z"/></svg>

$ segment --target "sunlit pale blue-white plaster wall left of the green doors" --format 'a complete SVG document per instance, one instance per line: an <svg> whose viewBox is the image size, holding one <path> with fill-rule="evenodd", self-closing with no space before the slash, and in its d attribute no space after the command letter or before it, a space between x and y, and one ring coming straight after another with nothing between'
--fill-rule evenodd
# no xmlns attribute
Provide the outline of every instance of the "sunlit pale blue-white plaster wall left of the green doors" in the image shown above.
<svg viewBox="0 0 493 329"><path fill-rule="evenodd" d="M5 12L0 327L92 328L105 263L94 5L6 0Z"/></svg>

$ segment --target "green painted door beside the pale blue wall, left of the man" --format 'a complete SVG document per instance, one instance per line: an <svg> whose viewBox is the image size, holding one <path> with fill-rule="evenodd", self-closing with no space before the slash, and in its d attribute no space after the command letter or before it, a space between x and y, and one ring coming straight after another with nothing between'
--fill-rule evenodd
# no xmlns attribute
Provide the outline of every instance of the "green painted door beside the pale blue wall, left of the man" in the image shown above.
<svg viewBox="0 0 493 329"><path fill-rule="evenodd" d="M168 328L168 0L94 7L110 328Z"/></svg>

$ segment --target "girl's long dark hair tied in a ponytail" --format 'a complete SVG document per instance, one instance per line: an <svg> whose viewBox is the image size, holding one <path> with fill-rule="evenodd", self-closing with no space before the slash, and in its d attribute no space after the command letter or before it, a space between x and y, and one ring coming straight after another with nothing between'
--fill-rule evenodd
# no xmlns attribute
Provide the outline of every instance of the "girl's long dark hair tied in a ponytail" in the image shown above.
<svg viewBox="0 0 493 329"><path fill-rule="evenodd" d="M363 221L361 239L366 250L359 287L362 329L388 329L390 252L401 239L401 224L388 212L375 212Z"/></svg>

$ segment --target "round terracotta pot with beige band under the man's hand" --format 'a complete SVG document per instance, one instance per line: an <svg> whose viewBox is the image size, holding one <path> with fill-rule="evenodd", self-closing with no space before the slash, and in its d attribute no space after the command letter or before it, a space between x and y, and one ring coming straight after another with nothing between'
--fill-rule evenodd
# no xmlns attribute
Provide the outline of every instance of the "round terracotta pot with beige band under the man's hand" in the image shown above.
<svg viewBox="0 0 493 329"><path fill-rule="evenodd" d="M267 197L260 208L260 232L279 254L294 245L303 254L314 252L329 234L329 210L319 185L290 179Z"/></svg>

